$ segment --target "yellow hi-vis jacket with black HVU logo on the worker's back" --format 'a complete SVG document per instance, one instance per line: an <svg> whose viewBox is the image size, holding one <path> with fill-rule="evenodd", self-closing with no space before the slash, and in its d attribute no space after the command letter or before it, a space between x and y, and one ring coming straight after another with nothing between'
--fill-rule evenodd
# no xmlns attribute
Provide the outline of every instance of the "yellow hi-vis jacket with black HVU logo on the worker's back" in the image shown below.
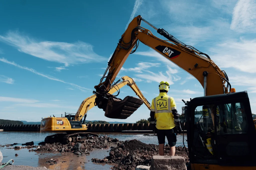
<svg viewBox="0 0 256 170"><path fill-rule="evenodd" d="M151 111L155 112L157 129L172 129L175 127L172 110L176 109L173 97L160 93L152 100Z"/></svg>

